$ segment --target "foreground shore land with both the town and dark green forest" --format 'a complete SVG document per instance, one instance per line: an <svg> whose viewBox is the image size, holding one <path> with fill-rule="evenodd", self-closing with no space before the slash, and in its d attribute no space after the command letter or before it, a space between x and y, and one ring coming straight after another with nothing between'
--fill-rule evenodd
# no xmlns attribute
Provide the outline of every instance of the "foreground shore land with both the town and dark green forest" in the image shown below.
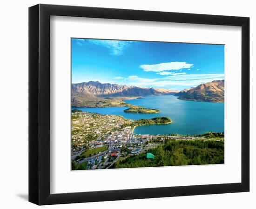
<svg viewBox="0 0 256 209"><path fill-rule="evenodd" d="M72 111L72 170L224 163L223 133L134 134L140 121ZM156 159L146 160L148 153Z"/></svg>

